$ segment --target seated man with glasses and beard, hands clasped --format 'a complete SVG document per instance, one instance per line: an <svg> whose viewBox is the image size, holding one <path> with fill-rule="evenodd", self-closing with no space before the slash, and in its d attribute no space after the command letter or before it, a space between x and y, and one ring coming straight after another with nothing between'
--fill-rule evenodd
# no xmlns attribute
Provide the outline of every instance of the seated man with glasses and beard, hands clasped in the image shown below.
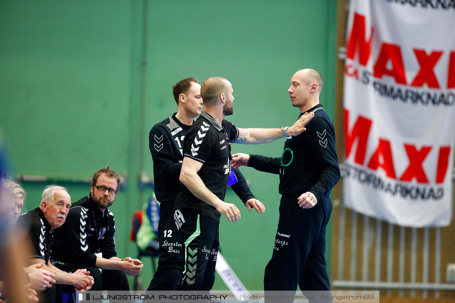
<svg viewBox="0 0 455 303"><path fill-rule="evenodd" d="M126 275L142 270L140 260L117 257L114 214L108 207L119 187L120 176L109 166L96 171L90 194L71 205L66 223L54 233L52 263L65 271L86 268L95 278L91 290L129 291Z"/></svg>

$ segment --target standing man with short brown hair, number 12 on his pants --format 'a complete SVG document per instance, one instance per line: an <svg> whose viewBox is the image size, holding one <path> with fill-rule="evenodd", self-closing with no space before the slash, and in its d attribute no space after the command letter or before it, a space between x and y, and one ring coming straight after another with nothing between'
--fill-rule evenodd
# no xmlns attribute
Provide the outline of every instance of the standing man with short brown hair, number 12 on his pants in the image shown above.
<svg viewBox="0 0 455 303"><path fill-rule="evenodd" d="M177 102L177 113L155 124L149 134L155 195L160 202L160 247L157 272L147 290L173 290L182 279L183 251L175 246L175 243L180 243L180 234L174 223L172 208L180 188L183 140L194 123L194 118L201 114L203 103L201 85L196 78L180 80L172 87L172 93ZM240 169L235 169L235 176L238 182L229 184L234 192L248 210L254 208L258 213L263 213L264 205L251 193ZM168 243L174 245L167 245Z"/></svg>

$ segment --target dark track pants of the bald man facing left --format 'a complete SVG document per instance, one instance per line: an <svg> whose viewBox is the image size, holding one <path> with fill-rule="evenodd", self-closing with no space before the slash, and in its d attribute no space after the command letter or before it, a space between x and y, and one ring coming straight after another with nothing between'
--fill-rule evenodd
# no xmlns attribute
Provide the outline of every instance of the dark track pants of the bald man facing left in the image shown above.
<svg viewBox="0 0 455 303"><path fill-rule="evenodd" d="M265 268L265 291L329 291L325 262L325 232L332 213L329 198L311 209L298 206L297 197L281 198L272 258ZM310 300L311 302L311 300Z"/></svg>

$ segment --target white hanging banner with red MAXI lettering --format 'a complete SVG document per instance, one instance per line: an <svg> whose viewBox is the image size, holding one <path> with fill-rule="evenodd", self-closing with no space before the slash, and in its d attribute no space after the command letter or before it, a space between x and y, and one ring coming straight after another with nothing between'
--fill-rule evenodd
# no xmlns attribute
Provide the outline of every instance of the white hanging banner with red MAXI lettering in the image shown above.
<svg viewBox="0 0 455 303"><path fill-rule="evenodd" d="M344 204L410 227L453 216L455 1L351 0Z"/></svg>

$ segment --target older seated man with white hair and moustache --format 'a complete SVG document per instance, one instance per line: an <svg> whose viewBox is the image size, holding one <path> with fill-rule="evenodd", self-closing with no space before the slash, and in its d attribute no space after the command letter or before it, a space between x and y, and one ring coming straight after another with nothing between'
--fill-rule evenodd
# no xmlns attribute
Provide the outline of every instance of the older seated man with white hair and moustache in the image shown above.
<svg viewBox="0 0 455 303"><path fill-rule="evenodd" d="M49 270L55 275L57 284L69 284L76 290L86 291L91 288L94 278L90 276L90 271L86 269L74 268L66 273L51 264L52 234L55 228L65 223L68 210L71 207L71 197L66 188L56 185L46 186L43 191L41 204L39 207L22 214L17 219L16 225L28 230L32 243L32 254L29 257L30 265L45 261L42 268ZM46 288L38 292L40 302L54 302L56 288Z"/></svg>

